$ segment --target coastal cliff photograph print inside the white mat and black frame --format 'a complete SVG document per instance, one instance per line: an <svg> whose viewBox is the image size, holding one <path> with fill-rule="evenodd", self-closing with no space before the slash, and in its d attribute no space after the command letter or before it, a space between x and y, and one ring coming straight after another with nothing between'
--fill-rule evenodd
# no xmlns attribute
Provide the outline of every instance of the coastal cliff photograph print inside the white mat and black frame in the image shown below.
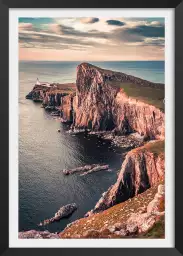
<svg viewBox="0 0 183 256"><path fill-rule="evenodd" d="M19 17L19 239L165 239L165 19Z"/></svg>

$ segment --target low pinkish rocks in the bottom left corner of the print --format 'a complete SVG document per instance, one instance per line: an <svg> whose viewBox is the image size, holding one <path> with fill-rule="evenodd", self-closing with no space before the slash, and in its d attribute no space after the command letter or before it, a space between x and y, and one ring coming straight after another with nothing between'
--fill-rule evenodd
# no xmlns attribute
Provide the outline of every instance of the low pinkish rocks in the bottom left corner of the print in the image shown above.
<svg viewBox="0 0 183 256"><path fill-rule="evenodd" d="M58 239L60 238L57 233L50 233L49 231L22 231L18 233L19 239Z"/></svg>

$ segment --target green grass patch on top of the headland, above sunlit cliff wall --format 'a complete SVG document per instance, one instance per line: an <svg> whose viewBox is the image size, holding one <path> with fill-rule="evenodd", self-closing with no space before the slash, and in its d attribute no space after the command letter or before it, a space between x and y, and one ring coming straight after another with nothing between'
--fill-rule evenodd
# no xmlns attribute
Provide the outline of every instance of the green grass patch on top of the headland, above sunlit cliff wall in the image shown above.
<svg viewBox="0 0 183 256"><path fill-rule="evenodd" d="M124 90L132 98L138 99L144 103L153 105L164 112L164 86L150 87L132 83L112 82Z"/></svg>

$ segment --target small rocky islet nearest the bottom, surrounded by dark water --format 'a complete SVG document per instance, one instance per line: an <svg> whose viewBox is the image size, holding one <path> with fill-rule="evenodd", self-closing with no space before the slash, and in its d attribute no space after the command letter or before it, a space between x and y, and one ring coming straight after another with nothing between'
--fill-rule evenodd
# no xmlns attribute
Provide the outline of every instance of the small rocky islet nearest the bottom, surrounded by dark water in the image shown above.
<svg viewBox="0 0 183 256"><path fill-rule="evenodd" d="M75 203L73 204L67 204L63 207L61 207L58 212L55 213L55 216L44 220L43 222L39 223L39 226L44 226L44 225L48 225L54 221L59 221L62 218L68 217L69 215L71 215L75 210L77 209L77 206Z"/></svg>

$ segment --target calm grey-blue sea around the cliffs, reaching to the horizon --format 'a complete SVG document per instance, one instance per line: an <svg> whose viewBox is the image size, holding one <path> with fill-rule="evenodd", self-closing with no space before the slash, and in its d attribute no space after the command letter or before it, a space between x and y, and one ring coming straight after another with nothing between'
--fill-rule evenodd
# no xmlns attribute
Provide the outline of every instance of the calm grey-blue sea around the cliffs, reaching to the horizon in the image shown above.
<svg viewBox="0 0 183 256"><path fill-rule="evenodd" d="M90 63L164 83L164 61ZM102 193L116 182L121 169L124 149L96 136L68 134L66 124L50 116L40 103L25 99L37 78L50 83L75 82L78 64L80 62L19 62L19 231L62 231L67 224L94 208ZM63 169L94 163L109 164L110 169L85 176L62 173ZM76 203L78 207L69 218L38 226L69 203Z"/></svg>

